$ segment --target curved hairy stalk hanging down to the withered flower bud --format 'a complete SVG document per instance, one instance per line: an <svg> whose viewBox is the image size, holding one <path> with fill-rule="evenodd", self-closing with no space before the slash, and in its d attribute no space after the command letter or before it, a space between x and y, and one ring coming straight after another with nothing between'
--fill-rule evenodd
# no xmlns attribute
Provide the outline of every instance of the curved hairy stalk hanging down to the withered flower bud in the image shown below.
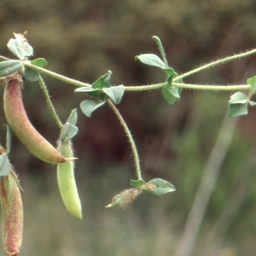
<svg viewBox="0 0 256 256"><path fill-rule="evenodd" d="M141 166L140 166L140 160L139 160L139 156L137 153L137 147L136 144L134 142L134 139L131 135L131 131L129 130L128 126L125 123L125 120L123 119L122 115L119 113L119 110L117 108L115 108L113 102L111 102L110 100L108 100L108 105L110 106L110 108L112 108L113 112L116 114L117 118L120 121L120 124L124 127L125 129L125 133L128 137L129 143L131 144L131 150L134 156L134 162L135 162L135 166L136 166L136 173L137 173L137 179L138 180L142 180L142 172L141 172Z"/></svg>

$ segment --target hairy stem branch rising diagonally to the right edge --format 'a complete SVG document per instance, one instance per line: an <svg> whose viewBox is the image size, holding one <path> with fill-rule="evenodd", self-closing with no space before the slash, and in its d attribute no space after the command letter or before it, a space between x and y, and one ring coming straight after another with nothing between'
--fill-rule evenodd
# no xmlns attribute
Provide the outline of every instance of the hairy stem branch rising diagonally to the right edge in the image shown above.
<svg viewBox="0 0 256 256"><path fill-rule="evenodd" d="M223 64L225 62L228 62L228 61L233 61L233 60L236 60L236 59L239 59L239 58L243 58L243 57L246 57L248 55L253 55L254 53L256 53L256 49L252 49L252 50L249 50L247 52L244 52L244 53L241 53L239 55L233 55L233 56L229 56L229 57L226 57L226 58L223 58L223 59L220 59L218 61L213 61L207 65L203 65L201 67L198 67L198 68L195 68L194 70L191 70L187 73L183 73L182 75L180 76L177 76L175 79L173 79L173 82L179 80L179 79L183 79L185 77L188 77L194 73L198 73L204 69L207 69L209 67L214 67L214 66L217 66L219 64Z"/></svg>

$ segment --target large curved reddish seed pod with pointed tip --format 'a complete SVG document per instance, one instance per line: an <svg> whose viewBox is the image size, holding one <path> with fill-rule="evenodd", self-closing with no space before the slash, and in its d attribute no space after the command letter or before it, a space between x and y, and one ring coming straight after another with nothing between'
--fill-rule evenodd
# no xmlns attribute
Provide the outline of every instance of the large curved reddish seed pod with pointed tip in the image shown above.
<svg viewBox="0 0 256 256"><path fill-rule="evenodd" d="M22 102L21 76L10 79L3 94L5 117L15 135L26 148L39 159L51 164L63 163L68 159L62 156L30 123Z"/></svg>

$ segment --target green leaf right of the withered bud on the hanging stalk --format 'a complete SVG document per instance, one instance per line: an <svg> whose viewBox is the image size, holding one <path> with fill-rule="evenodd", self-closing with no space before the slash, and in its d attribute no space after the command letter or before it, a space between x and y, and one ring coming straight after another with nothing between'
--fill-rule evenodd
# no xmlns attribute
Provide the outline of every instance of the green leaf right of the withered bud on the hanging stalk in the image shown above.
<svg viewBox="0 0 256 256"><path fill-rule="evenodd" d="M152 179L145 184L145 187L154 195L165 195L166 193L170 193L176 190L172 183L169 183L161 178Z"/></svg>

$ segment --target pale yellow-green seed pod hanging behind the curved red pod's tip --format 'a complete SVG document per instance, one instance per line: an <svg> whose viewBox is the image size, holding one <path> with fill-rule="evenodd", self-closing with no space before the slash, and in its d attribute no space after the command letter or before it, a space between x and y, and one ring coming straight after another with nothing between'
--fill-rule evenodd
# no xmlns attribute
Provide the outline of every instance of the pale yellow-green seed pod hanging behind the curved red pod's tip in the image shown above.
<svg viewBox="0 0 256 256"><path fill-rule="evenodd" d="M73 148L70 140L65 143L60 143L58 151L69 159L73 158ZM74 177L73 160L57 165L57 180L61 198L67 211L70 212L73 217L82 219L82 207Z"/></svg>

